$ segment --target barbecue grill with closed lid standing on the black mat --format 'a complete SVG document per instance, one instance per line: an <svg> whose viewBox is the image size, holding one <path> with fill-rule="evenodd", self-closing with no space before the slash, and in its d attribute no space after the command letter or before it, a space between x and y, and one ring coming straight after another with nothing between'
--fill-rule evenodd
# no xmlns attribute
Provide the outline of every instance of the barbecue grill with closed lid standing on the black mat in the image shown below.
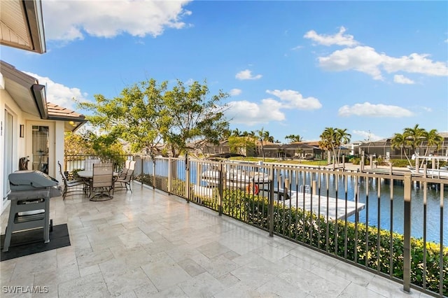
<svg viewBox="0 0 448 298"><path fill-rule="evenodd" d="M50 242L50 198L62 195L59 182L41 171L9 174L11 201L3 251L9 249L13 232L43 227L43 241Z"/></svg>

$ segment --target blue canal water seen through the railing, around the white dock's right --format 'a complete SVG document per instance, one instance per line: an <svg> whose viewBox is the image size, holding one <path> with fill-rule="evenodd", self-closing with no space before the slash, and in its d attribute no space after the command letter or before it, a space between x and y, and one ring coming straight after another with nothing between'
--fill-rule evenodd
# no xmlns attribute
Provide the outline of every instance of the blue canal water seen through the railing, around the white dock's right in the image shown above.
<svg viewBox="0 0 448 298"><path fill-rule="evenodd" d="M294 173L290 179L291 189L300 191L300 185L312 185L312 181L319 180L316 174L300 173L295 177ZM345 179L347 179L345 181ZM325 199L327 194L327 177L321 175L320 194ZM355 201L356 197L360 203L365 204L365 208L358 213L358 221L371 227L380 227L399 234L404 232L404 186L401 181L391 185L390 180L384 179L357 179L353 176L348 178L340 177L337 181L334 175L328 176L328 196L337 199L347 199ZM298 183L297 183L298 182ZM298 184L298 186L297 186ZM345 188L345 185L346 188ZM357 187L356 187L357 186ZM357 190L356 190L357 189ZM379 189L379 192L378 192ZM393 198L391 198L393 189ZM443 197L441 197L440 187L428 187L426 193L426 218L425 202L423 201L423 185L412 186L411 190L411 235L417 239L423 238L426 232L426 241L440 243L440 222L442 221L443 245L448 246L448 187L445 185ZM379 193L379 194L378 194ZM440 206L443 206L441 211ZM392 209L392 212L391 212ZM442 214L443 212L443 214ZM391 220L392 218L392 220ZM348 218L355 221L355 215ZM426 220L426 231L425 227Z"/></svg>

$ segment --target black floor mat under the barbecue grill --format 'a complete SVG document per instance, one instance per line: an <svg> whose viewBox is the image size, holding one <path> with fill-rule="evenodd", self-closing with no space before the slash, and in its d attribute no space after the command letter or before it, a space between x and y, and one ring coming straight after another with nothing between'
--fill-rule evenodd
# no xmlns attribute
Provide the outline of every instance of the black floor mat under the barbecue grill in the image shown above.
<svg viewBox="0 0 448 298"><path fill-rule="evenodd" d="M48 243L43 243L42 228L13 233L9 251L3 253L4 241L5 235L1 235L1 261L70 246L69 230L66 224L53 226Z"/></svg>

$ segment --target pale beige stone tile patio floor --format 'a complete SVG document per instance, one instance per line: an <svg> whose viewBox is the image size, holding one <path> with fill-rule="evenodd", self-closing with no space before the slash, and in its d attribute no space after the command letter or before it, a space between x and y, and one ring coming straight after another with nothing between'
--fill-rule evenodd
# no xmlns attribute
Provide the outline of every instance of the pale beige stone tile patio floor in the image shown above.
<svg viewBox="0 0 448 298"><path fill-rule="evenodd" d="M174 195L132 189L110 201L51 199L71 246L1 262L1 296L429 297Z"/></svg>

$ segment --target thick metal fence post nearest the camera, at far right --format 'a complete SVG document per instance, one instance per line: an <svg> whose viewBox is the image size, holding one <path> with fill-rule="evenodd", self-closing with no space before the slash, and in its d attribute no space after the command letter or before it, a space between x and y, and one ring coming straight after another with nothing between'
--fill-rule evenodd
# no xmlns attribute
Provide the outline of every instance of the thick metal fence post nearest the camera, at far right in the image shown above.
<svg viewBox="0 0 448 298"><path fill-rule="evenodd" d="M405 193L404 193L404 242L403 242L403 290L411 290L411 188L412 180L410 174L405 174Z"/></svg>

